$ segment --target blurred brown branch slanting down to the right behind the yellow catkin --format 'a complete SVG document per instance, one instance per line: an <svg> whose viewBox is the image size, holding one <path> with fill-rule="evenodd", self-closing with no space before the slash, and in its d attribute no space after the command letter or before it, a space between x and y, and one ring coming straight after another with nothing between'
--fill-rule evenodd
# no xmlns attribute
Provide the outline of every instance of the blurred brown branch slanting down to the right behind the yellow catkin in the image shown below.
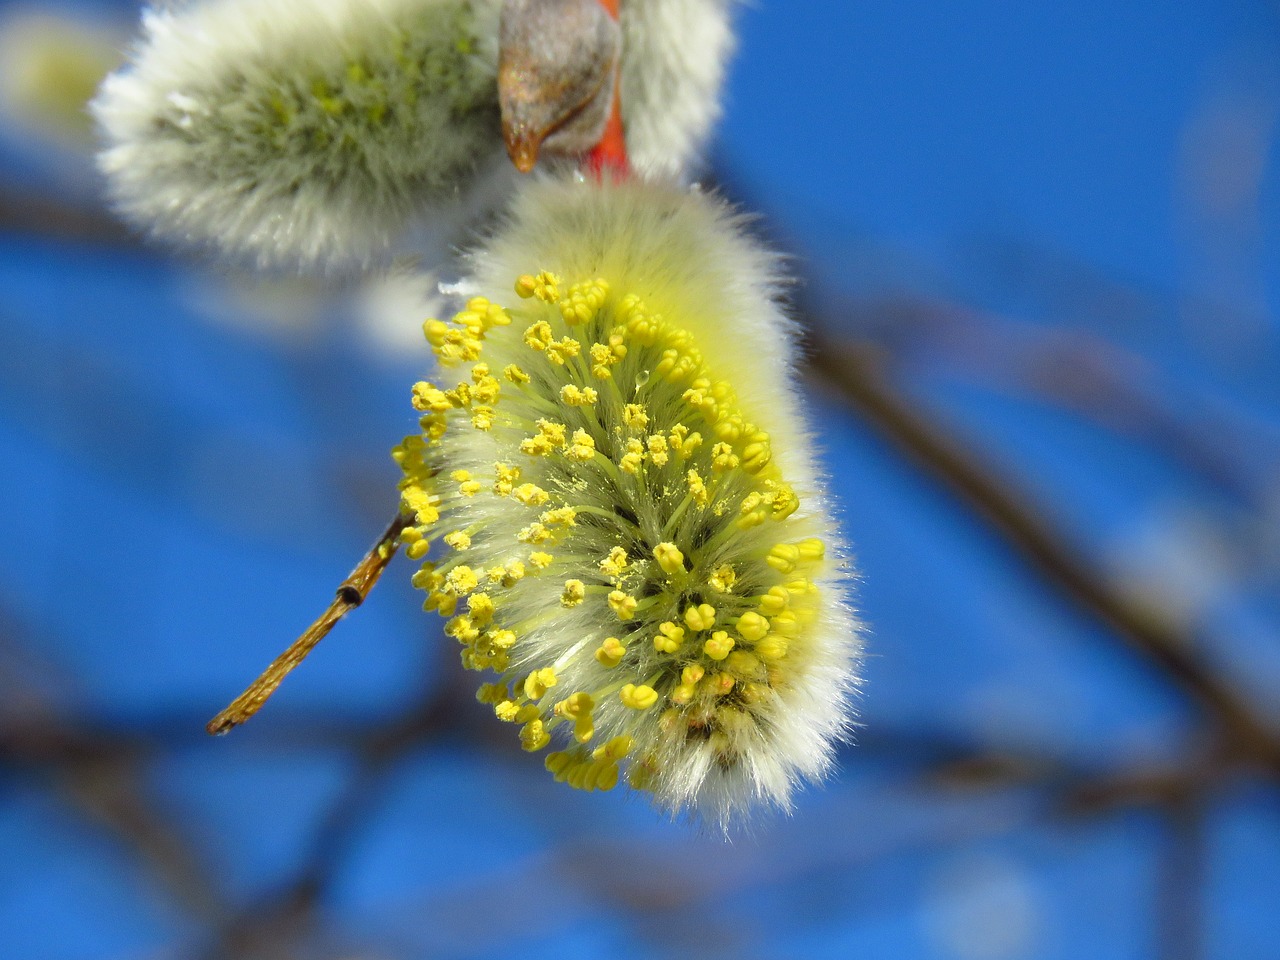
<svg viewBox="0 0 1280 960"><path fill-rule="evenodd" d="M812 330L812 328L810 328ZM881 374L872 351L810 333L809 369L864 421L940 480L1052 584L1189 694L1242 758L1280 774L1280 740L1253 708L1194 653L1194 637L1112 589L1036 511L980 466Z"/></svg>

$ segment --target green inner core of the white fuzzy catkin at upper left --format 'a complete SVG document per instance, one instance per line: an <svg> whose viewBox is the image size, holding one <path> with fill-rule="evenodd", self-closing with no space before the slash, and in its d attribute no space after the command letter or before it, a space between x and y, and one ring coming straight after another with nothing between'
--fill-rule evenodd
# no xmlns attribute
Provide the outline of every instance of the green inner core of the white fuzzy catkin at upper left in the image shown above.
<svg viewBox="0 0 1280 960"><path fill-rule="evenodd" d="M471 3L401 5L353 36L298 40L180 91L157 120L191 173L287 198L328 189L394 212L452 192L500 133Z"/></svg>

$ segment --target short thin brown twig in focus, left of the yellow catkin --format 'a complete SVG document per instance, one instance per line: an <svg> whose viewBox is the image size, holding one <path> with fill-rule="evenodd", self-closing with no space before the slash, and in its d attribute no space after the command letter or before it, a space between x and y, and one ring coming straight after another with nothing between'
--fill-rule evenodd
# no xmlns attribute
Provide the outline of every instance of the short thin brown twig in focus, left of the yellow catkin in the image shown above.
<svg viewBox="0 0 1280 960"><path fill-rule="evenodd" d="M271 662L271 666L248 685L243 694L232 700L225 710L209 721L205 730L215 736L227 733L233 727L244 723L262 708L262 704L270 699L284 678L306 659L316 644L329 635L329 631L337 626L338 621L365 602L369 591L374 589L378 579L387 570L387 564L396 556L399 535L411 520L407 515L396 515L396 518L387 527L385 532L378 538L378 543L361 558L356 568L351 571L351 575L338 585L333 603L329 604L328 609L303 631L302 636L289 644L284 653L276 657Z"/></svg>

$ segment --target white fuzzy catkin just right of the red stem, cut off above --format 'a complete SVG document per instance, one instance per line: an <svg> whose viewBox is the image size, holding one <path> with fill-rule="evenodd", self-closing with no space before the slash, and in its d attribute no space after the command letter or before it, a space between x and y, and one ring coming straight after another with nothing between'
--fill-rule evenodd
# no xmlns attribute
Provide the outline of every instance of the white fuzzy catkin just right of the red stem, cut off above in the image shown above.
<svg viewBox="0 0 1280 960"><path fill-rule="evenodd" d="M631 165L675 177L698 164L721 114L735 0L623 0L622 124Z"/></svg>

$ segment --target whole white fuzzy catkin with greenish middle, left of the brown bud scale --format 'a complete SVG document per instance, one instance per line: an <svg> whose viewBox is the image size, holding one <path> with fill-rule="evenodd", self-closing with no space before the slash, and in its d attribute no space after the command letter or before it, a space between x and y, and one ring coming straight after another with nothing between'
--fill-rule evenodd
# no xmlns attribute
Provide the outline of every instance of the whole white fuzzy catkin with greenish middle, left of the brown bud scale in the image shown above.
<svg viewBox="0 0 1280 960"><path fill-rule="evenodd" d="M500 0L197 0L92 110L113 201L261 265L367 262L502 150Z"/></svg>

